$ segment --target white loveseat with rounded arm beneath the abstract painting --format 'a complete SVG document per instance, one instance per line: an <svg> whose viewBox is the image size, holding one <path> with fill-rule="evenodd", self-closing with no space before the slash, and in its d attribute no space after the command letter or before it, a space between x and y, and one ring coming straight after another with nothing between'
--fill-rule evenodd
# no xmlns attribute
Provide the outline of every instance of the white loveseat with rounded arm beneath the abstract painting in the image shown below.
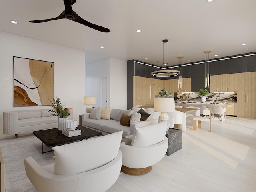
<svg viewBox="0 0 256 192"><path fill-rule="evenodd" d="M21 132L58 127L58 116L52 116L50 109L19 110L3 112L4 134L16 135ZM73 119L73 109L68 119Z"/></svg>

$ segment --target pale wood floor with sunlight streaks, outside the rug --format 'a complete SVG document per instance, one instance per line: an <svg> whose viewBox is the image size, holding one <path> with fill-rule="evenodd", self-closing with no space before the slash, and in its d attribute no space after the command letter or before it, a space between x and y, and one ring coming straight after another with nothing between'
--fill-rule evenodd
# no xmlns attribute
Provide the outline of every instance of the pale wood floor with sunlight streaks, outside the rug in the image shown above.
<svg viewBox="0 0 256 192"><path fill-rule="evenodd" d="M212 121L212 132L207 122L201 130L192 129L188 120L181 150L145 175L121 173L107 192L256 191L256 119L227 117L223 124Z"/></svg>

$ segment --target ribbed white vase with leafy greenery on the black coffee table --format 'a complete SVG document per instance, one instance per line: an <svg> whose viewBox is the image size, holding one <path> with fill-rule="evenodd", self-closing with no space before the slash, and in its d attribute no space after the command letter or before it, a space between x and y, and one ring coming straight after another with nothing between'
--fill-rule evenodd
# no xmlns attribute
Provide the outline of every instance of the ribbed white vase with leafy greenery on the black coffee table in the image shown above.
<svg viewBox="0 0 256 192"><path fill-rule="evenodd" d="M58 130L61 131L66 128L66 120L68 120L68 116L71 114L71 109L65 108L60 102L60 98L56 98L56 100L53 98L50 102L52 103L52 110L48 111L54 112L54 114L51 114L52 116L58 116Z"/></svg>

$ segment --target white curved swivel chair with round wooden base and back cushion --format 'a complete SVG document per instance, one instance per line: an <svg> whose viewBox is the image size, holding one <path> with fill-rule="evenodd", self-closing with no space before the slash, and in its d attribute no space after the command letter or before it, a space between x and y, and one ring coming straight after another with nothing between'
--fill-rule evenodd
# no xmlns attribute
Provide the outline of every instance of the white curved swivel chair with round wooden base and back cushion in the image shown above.
<svg viewBox="0 0 256 192"><path fill-rule="evenodd" d="M127 136L120 144L123 153L122 172L130 175L142 175L150 172L152 165L166 154L168 138L166 122L136 128L134 134Z"/></svg>

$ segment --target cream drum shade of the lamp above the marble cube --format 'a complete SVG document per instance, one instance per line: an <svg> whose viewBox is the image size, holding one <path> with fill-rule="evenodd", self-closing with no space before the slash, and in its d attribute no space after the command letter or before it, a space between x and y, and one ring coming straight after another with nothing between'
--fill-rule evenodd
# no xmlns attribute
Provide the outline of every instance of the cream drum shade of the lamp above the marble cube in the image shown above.
<svg viewBox="0 0 256 192"><path fill-rule="evenodd" d="M154 99L154 111L156 112L174 112L175 103L173 97L157 97Z"/></svg>

